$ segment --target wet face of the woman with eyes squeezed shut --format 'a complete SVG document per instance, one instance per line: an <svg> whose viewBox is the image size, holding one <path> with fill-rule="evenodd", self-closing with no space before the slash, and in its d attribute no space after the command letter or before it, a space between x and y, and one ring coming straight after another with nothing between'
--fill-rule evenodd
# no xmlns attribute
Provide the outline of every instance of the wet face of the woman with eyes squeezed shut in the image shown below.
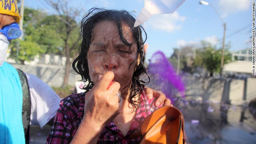
<svg viewBox="0 0 256 144"><path fill-rule="evenodd" d="M122 24L122 30L127 42L132 43L132 31L129 26ZM122 92L126 86L130 86L132 80L134 66L137 64L137 46L133 44L129 48L124 44L120 40L117 26L111 21L96 24L93 34L94 38L87 54L90 78L95 84L100 75L112 71L115 74L114 81L120 83Z"/></svg>

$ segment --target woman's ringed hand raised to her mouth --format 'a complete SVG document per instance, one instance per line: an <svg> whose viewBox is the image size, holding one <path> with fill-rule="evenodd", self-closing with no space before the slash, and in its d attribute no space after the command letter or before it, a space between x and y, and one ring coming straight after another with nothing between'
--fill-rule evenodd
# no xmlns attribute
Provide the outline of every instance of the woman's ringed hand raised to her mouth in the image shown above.
<svg viewBox="0 0 256 144"><path fill-rule="evenodd" d="M94 87L86 94L84 118L90 122L103 124L111 122L122 108L122 102L116 94L120 94L120 84L110 82L114 78L113 72L106 72L99 76ZM109 88L108 88L109 86Z"/></svg>

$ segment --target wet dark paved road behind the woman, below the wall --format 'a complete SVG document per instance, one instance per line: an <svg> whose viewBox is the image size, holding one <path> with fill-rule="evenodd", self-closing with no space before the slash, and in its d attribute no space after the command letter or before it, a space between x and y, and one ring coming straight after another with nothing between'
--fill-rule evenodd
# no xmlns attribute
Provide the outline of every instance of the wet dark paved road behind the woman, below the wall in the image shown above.
<svg viewBox="0 0 256 144"><path fill-rule="evenodd" d="M184 114L187 144L256 144L256 110L218 103L174 102ZM30 144L45 144L50 127L31 126Z"/></svg>

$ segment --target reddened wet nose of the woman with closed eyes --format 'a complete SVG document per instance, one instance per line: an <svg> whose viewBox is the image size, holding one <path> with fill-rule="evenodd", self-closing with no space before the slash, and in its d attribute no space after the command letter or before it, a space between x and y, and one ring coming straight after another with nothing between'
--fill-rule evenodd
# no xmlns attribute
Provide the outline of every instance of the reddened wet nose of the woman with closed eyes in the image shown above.
<svg viewBox="0 0 256 144"><path fill-rule="evenodd" d="M118 68L118 58L116 54L108 54L104 61L104 68L111 70Z"/></svg>

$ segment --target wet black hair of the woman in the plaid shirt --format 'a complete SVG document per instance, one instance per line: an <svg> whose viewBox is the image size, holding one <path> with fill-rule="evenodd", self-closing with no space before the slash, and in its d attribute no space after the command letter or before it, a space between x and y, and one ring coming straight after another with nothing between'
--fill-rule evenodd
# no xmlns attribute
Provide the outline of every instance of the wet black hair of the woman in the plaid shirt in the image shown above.
<svg viewBox="0 0 256 144"><path fill-rule="evenodd" d="M150 78L146 72L146 68L144 66L144 60L145 60L145 51L144 51L144 43L147 39L146 32L142 26L134 27L135 18L127 12L126 10L106 10L104 8L91 8L88 11L88 14L82 19L81 22L81 38L82 43L79 47L79 55L77 58L74 59L72 62L72 67L75 70L76 73L80 74L82 77L81 81L88 82L88 85L84 86L83 89L88 92L92 87L94 86L92 80L90 79L89 75L89 69L88 69L88 61L87 61L87 53L88 49L90 47L90 44L93 40L94 36L94 26L102 22L104 20L109 20L114 22L116 26L118 27L118 32L120 35L120 39L124 44L128 46L132 46L136 43L137 45L137 52L136 52L136 60L134 62L136 63L134 67L134 73L131 80L131 86L130 86L130 96L128 98L130 104L135 106L135 108L138 108L139 100L140 100L140 94L144 88L144 84L147 84L150 81ZM122 23L128 24L132 31L133 36L133 42L129 43L124 38L123 32L122 32ZM142 31L145 34L145 41L142 38ZM139 64L137 64L137 60L140 60ZM142 75L146 74L148 77L148 82L145 82L141 79ZM139 99L137 101L132 100L136 95L139 94Z"/></svg>

